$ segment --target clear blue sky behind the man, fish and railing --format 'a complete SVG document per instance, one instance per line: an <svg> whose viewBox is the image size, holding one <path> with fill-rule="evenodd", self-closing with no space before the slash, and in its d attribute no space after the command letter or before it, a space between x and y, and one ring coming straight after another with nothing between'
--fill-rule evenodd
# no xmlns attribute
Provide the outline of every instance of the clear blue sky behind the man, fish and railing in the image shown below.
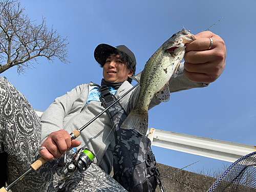
<svg viewBox="0 0 256 192"><path fill-rule="evenodd" d="M56 97L79 84L100 83L102 69L93 52L101 43L126 45L135 54L140 72L151 55L174 33L186 28L197 34L224 17L210 31L226 44L226 68L209 87L171 95L149 113L149 127L176 133L256 145L256 1L32 1L25 13L69 41L67 65L39 59L36 69L18 75L16 68L1 74L45 111ZM135 84L135 82L133 82ZM159 163L174 167L215 168L228 162L154 147Z"/></svg>

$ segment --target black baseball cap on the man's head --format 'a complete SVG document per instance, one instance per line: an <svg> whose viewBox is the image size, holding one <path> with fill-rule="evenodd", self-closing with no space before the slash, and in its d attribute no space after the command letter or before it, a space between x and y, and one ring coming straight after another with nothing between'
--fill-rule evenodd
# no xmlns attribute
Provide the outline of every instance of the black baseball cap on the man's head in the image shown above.
<svg viewBox="0 0 256 192"><path fill-rule="evenodd" d="M132 59L133 63L132 63L131 69L135 72L136 71L135 55L133 54L133 52L130 49L128 49L124 45L112 47L110 45L100 44L95 48L94 58L101 65L101 67L103 67L105 64L106 56L115 52L116 49L124 52L126 55L128 55Z"/></svg>

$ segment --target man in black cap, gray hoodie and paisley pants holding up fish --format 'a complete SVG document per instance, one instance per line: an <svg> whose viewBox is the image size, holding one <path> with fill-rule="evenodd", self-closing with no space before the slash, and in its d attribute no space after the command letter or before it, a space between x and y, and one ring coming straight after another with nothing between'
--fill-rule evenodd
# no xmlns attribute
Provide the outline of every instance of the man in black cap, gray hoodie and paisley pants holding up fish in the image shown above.
<svg viewBox="0 0 256 192"><path fill-rule="evenodd" d="M215 81L225 68L224 41L209 31L199 33L196 38L197 40L186 45L185 63L181 64L179 75L169 81L171 93L206 87L208 83ZM132 88L129 77L136 71L136 59L128 48L101 44L95 49L94 56L103 68L101 84L108 86L112 94L119 98ZM3 98L0 103L0 152L8 154L8 183L23 174L40 156L49 160L15 185L12 191L55 190L62 179L61 167L57 166L59 159L56 158L78 146L86 146L92 150L98 163L92 164L86 173L78 173L68 180L65 184L66 191L86 191L92 188L102 191L125 191L108 175L112 169L115 146L108 114L102 114L96 119L81 132L77 140L70 139L72 131L79 129L104 110L99 101L97 84L81 84L66 95L56 98L39 122L26 98L5 79L0 78L0 82ZM138 93L138 89L135 89L120 100L127 114L133 109ZM154 98L150 108L159 103L160 101ZM69 152L69 155L74 154ZM52 161L55 159L56 161Z"/></svg>

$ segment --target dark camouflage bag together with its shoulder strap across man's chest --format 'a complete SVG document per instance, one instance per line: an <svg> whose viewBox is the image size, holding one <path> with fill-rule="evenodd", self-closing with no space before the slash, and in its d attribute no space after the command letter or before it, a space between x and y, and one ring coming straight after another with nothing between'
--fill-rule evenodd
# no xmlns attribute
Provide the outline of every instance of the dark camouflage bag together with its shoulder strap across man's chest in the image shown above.
<svg viewBox="0 0 256 192"><path fill-rule="evenodd" d="M116 100L112 94L107 92L102 93L102 95L100 100L105 108ZM154 165L155 156L151 150L150 139L139 134L136 130L119 128L127 117L120 103L114 104L108 111L113 120L116 138L113 178L128 191L155 191L156 180L159 179L157 177L160 177L160 174L156 174L159 171Z"/></svg>

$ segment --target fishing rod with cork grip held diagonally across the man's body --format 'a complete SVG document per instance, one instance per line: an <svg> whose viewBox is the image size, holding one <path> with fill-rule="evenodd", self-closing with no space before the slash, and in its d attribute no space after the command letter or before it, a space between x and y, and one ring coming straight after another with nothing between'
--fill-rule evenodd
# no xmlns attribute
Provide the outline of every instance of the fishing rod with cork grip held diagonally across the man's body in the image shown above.
<svg viewBox="0 0 256 192"><path fill-rule="evenodd" d="M95 121L99 116L101 116L103 113L105 113L107 110L109 110L116 102L118 102L120 99L122 99L124 96L126 96L128 93L130 93L132 90L134 90L136 87L138 87L139 84L136 84L134 87L132 87L130 90L125 92L123 95L121 95L115 102L113 102L108 108L105 108L102 112L100 112L97 116L95 116L93 119L91 119L88 123L84 124L80 129L74 130L71 134L71 140L76 139L78 136L80 136L81 132L89 126L93 121ZM85 153L84 153L85 154ZM89 153L90 154L90 153ZM93 154L90 154L93 155ZM91 158L90 158L91 159ZM92 160L92 159L91 159ZM37 170L40 166L45 164L48 160L40 157L38 160L36 160L34 163L32 163L30 168L21 176L19 176L16 180L14 180L11 184L9 184L6 187L2 187L0 189L0 192L8 192L14 185L16 185L19 181L24 179L27 175L29 175L31 172ZM87 167L88 168L88 167Z"/></svg>

